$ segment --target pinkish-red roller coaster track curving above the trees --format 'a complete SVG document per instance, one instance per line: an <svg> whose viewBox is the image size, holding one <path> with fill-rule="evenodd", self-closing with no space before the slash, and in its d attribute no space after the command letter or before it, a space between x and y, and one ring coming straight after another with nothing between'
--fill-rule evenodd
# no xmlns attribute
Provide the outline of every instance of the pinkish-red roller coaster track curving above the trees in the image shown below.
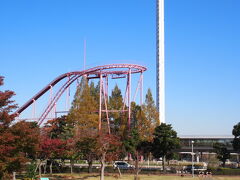
<svg viewBox="0 0 240 180"><path fill-rule="evenodd" d="M113 79L116 78L125 78L127 77L127 86L126 86L126 94L128 94L128 103L129 103L129 124L130 124L130 97L131 97L131 74L134 73L141 73L141 82L142 82L142 73L146 71L146 67L135 65L135 64L110 64L110 65L103 65L103 66L97 66L94 68L90 68L84 71L74 71L74 72L68 72L65 74L62 74L58 76L56 79L54 79L52 82L50 82L46 87L44 87L41 91L39 91L35 96L33 96L30 100L28 100L23 106L21 106L15 113L17 115L20 115L25 109L27 109L31 104L33 104L37 99L39 99L42 95L44 95L48 90L50 90L52 87L54 87L57 83L59 83L61 80L68 78L68 80L60 87L60 89L55 94L54 98L51 100L47 108L44 110L40 118L38 119L38 124L41 124L44 119L47 117L48 113L53 109L54 105L58 101L58 99L61 97L61 95L64 93L64 91L79 77L86 76L88 79L92 78L99 78L100 84L102 84L102 79L106 78L108 76L112 76ZM142 88L142 87L140 87ZM102 99L101 94L104 92L103 85L100 85L100 101ZM105 94L105 93L103 93ZM104 97L105 98L105 97ZM106 101L106 99L105 99ZM101 104L101 103L100 103ZM125 104L124 104L125 106ZM105 102L105 110L101 109L101 106L99 107L99 119L101 121L101 112L107 112L107 105ZM99 125L99 128L101 128L101 123Z"/></svg>

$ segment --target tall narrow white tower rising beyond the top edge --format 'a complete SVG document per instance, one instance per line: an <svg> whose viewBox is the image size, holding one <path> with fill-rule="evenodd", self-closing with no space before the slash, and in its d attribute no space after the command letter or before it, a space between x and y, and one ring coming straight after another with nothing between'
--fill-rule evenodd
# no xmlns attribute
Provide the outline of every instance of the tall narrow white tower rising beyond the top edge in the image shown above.
<svg viewBox="0 0 240 180"><path fill-rule="evenodd" d="M160 123L165 123L164 0L157 1L157 108Z"/></svg>

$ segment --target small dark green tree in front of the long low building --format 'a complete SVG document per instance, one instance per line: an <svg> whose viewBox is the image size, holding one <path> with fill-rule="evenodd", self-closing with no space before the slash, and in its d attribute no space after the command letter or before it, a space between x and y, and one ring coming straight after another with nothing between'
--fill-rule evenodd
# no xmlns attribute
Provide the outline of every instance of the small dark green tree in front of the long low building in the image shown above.
<svg viewBox="0 0 240 180"><path fill-rule="evenodd" d="M217 158L222 161L222 166L225 167L226 160L230 158L230 152L228 151L227 146L223 143L215 143L213 148L217 153Z"/></svg>

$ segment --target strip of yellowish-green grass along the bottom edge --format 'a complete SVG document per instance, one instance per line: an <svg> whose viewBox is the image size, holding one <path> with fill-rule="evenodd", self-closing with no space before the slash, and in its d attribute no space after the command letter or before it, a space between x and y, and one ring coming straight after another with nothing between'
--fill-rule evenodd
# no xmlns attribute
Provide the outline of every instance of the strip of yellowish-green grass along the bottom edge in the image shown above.
<svg viewBox="0 0 240 180"><path fill-rule="evenodd" d="M50 177L50 176L46 176ZM140 180L240 180L240 176L213 176L213 177L194 177L191 176L164 176L164 175L140 175ZM56 174L50 178L51 180L74 179L74 180L99 180L98 174ZM122 175L118 177L116 174L107 174L105 180L134 180L134 175Z"/></svg>

